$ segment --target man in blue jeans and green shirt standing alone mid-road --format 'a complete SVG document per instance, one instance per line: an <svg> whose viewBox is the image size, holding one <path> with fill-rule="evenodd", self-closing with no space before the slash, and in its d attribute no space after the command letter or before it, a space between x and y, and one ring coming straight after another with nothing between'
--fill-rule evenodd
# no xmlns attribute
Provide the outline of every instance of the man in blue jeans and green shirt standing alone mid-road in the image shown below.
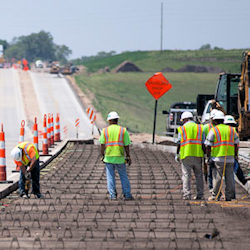
<svg viewBox="0 0 250 250"><path fill-rule="evenodd" d="M119 115L112 111L108 114L109 126L102 130L100 136L102 160L106 165L107 187L111 200L117 199L115 170L118 171L124 200L132 200L130 182L127 176L126 164L131 164L129 144L130 138L126 128L118 125ZM124 149L126 159L124 157Z"/></svg>

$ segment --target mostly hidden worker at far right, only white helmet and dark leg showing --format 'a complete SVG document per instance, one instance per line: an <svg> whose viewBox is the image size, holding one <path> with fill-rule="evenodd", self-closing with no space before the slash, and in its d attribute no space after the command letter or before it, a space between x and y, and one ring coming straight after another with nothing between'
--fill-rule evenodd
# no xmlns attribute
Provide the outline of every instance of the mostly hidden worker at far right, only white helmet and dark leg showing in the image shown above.
<svg viewBox="0 0 250 250"><path fill-rule="evenodd" d="M224 124L229 125L231 127L233 127L235 129L236 132L236 121L234 120L234 117L231 115L226 115L225 119L224 119ZM237 132L236 132L237 133ZM237 157L236 157L237 158ZM245 178L244 173L240 167L240 164L238 162L238 160L234 161L234 173L236 174L238 180L245 185L246 189L249 189L250 185L248 180Z"/></svg>

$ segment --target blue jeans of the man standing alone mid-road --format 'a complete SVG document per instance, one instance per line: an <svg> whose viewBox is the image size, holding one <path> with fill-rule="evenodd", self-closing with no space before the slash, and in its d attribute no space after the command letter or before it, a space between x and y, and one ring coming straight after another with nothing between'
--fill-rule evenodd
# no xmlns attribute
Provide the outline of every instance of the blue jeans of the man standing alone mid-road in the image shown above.
<svg viewBox="0 0 250 250"><path fill-rule="evenodd" d="M106 165L106 175L107 175L107 186L110 198L115 198L117 195L116 184L115 184L115 170L117 170L119 173L124 197L131 198L132 195L127 175L126 165L124 163L123 164L105 163L105 165Z"/></svg>

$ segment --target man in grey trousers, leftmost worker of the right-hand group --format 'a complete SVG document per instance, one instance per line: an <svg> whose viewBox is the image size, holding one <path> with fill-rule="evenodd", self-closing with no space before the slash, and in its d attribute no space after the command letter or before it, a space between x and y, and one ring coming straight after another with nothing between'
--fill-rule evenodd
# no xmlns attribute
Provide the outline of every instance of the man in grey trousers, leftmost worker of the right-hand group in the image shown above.
<svg viewBox="0 0 250 250"><path fill-rule="evenodd" d="M194 199L204 199L202 158L204 156L202 125L193 121L193 114L185 111L181 115L183 126L178 128L178 142L175 160L181 160L183 199L191 199L191 171L196 178L197 194Z"/></svg>

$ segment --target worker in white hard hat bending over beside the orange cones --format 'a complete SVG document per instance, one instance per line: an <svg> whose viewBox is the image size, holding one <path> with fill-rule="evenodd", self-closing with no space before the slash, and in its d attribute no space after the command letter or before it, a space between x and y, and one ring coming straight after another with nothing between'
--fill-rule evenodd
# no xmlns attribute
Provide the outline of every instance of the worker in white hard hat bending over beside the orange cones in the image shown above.
<svg viewBox="0 0 250 250"><path fill-rule="evenodd" d="M32 193L37 198L43 198L40 192L40 166L39 153L33 143L21 142L11 151L11 156L17 166L20 167L19 179L19 195L23 197L25 194L25 181L28 174L31 174Z"/></svg>

